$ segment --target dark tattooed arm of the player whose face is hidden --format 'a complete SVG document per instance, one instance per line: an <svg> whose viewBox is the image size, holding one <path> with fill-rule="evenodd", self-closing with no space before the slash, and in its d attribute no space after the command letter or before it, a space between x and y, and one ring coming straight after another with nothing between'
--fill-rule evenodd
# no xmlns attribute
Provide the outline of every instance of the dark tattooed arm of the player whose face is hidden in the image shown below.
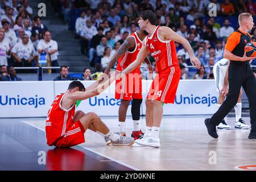
<svg viewBox="0 0 256 182"><path fill-rule="evenodd" d="M117 63L118 59L123 56L130 48L135 47L135 41L133 38L129 37L125 39L125 42L118 48L117 52L115 52L112 59L110 59L108 66L105 69L105 74L109 74L110 69Z"/></svg>

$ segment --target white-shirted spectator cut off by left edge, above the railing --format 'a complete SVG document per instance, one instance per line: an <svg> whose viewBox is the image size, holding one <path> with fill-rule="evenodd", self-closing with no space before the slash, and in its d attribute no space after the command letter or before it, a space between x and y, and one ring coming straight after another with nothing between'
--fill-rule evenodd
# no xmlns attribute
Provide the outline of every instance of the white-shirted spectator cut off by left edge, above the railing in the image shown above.
<svg viewBox="0 0 256 182"><path fill-rule="evenodd" d="M4 41L5 34L0 32L0 65L8 65L7 63L7 55L9 55L9 44L8 42Z"/></svg>

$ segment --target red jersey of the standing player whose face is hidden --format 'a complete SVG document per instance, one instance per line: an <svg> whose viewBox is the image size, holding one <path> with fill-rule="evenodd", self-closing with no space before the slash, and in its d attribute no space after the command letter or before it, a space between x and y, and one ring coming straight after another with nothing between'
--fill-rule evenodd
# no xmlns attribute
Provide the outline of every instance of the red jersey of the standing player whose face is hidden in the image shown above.
<svg viewBox="0 0 256 182"><path fill-rule="evenodd" d="M129 38L129 37L134 38L134 40L135 40L135 49L132 52L131 51L126 51L125 55L123 55L120 59L118 59L117 68L122 67L123 69L125 69L126 67L128 67L131 63L133 63L133 61L136 60L137 55L139 53L139 50L141 50L142 41L141 41L141 39L139 39L139 37L137 35L137 32L134 32L133 34L131 34L127 38ZM136 68L134 71L139 71L140 68L141 68L141 65L139 65L138 68ZM119 70L119 71L122 71L122 70Z"/></svg>

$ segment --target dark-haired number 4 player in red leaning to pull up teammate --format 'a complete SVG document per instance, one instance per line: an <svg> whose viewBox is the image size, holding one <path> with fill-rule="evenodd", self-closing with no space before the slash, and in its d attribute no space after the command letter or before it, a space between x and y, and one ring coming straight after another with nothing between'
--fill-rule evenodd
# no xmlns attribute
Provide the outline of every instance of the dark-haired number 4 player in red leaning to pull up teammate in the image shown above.
<svg viewBox="0 0 256 182"><path fill-rule="evenodd" d="M200 68L200 61L193 53L187 39L176 34L171 28L156 26L156 15L151 10L139 14L139 27L149 34L143 40L143 46L137 59L131 63L123 74L130 73L138 67L149 52L156 61L156 77L151 84L146 99L146 133L135 142L142 146L160 147L159 129L163 117L163 103L174 103L177 86L180 80L180 68L177 61L174 42L183 44L188 51L192 65ZM116 79L123 74L119 74Z"/></svg>

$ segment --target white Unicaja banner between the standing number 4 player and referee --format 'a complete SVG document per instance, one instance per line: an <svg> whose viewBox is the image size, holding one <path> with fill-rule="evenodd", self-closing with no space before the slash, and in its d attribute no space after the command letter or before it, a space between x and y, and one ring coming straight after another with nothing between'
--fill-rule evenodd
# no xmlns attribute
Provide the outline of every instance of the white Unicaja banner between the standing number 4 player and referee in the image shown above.
<svg viewBox="0 0 256 182"><path fill-rule="evenodd" d="M147 84L147 90L150 84ZM146 95L143 96L143 100ZM163 115L213 114L218 92L214 80L180 80L174 104L164 104ZM143 102L143 115L146 105Z"/></svg>

